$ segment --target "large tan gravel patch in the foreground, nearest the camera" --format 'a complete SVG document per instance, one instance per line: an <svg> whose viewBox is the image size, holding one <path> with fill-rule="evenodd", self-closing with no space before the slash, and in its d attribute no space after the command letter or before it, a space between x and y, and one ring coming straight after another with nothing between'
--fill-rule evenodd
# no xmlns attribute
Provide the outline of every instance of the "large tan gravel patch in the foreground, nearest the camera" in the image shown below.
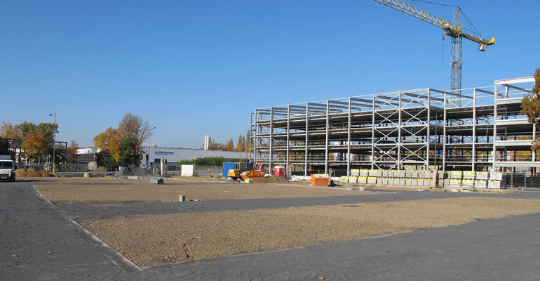
<svg viewBox="0 0 540 281"><path fill-rule="evenodd" d="M540 211L539 200L461 197L81 219L139 266L350 240Z"/></svg>

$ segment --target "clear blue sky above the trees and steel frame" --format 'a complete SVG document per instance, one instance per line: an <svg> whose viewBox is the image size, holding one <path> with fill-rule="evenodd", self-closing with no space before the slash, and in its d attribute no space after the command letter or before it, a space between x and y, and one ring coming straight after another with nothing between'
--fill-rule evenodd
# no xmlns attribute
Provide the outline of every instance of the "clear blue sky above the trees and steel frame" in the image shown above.
<svg viewBox="0 0 540 281"><path fill-rule="evenodd" d="M407 1L451 20L452 7ZM540 1L450 1L464 39L463 88L540 67ZM257 107L431 87L450 89L450 37L368 0L0 1L0 122L53 122L91 146L123 115L152 143L234 142Z"/></svg>

